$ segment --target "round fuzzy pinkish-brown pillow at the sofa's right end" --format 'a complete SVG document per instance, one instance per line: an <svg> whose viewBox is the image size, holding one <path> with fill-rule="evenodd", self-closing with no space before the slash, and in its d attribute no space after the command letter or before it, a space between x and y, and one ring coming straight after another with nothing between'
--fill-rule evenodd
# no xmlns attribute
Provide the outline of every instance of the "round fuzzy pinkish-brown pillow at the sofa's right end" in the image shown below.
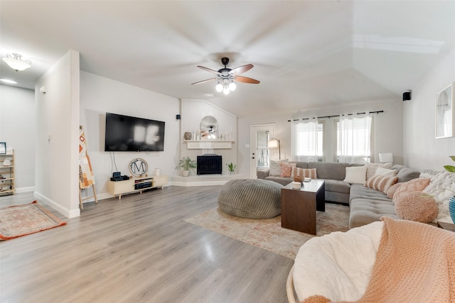
<svg viewBox="0 0 455 303"><path fill-rule="evenodd" d="M438 206L432 196L410 192L397 199L395 212L405 220L429 223L438 216Z"/></svg>

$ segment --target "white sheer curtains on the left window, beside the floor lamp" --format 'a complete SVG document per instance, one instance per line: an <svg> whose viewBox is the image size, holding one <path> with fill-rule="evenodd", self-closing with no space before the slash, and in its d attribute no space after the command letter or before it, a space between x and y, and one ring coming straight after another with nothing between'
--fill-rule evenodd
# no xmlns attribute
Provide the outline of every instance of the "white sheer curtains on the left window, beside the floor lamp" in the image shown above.
<svg viewBox="0 0 455 303"><path fill-rule="evenodd" d="M322 157L322 131L318 127L317 119L293 123L293 160L317 162L318 156Z"/></svg>

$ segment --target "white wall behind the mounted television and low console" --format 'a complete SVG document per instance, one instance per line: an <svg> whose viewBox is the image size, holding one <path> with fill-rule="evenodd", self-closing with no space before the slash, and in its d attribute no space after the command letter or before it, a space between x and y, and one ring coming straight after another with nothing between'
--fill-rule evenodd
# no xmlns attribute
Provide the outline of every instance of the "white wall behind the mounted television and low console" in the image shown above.
<svg viewBox="0 0 455 303"><path fill-rule="evenodd" d="M105 152L106 112L164 121L164 151ZM98 199L112 197L107 194L107 181L112 177L112 172L119 171L122 175L130 175L128 164L134 158L146 160L150 175L154 175L156 167L159 167L160 175L171 176L176 173L176 150L180 144L180 121L176 120L178 113L179 100L176 98L89 72L80 72L80 125L85 131L87 153L92 164ZM89 194L92 193L84 193L85 196Z"/></svg>

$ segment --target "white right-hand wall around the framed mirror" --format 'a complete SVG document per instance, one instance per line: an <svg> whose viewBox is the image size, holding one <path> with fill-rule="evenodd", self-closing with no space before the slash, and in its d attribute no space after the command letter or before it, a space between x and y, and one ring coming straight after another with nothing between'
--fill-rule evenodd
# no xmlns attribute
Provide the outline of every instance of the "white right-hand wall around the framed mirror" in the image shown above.
<svg viewBox="0 0 455 303"><path fill-rule="evenodd" d="M454 165L448 157L455 155L455 137L436 139L434 129L436 94L452 82L455 82L455 48L417 87L412 87L412 99L405 102L406 165L418 170L444 170L444 165Z"/></svg>

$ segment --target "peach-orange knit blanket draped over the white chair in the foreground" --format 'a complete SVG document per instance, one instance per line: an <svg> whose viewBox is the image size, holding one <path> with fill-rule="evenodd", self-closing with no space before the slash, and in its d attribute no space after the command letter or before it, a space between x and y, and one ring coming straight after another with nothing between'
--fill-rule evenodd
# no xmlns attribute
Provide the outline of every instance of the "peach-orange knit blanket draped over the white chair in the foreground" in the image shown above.
<svg viewBox="0 0 455 303"><path fill-rule="evenodd" d="M455 233L382 217L373 273L357 302L455 302ZM331 302L322 296L304 303Z"/></svg>

